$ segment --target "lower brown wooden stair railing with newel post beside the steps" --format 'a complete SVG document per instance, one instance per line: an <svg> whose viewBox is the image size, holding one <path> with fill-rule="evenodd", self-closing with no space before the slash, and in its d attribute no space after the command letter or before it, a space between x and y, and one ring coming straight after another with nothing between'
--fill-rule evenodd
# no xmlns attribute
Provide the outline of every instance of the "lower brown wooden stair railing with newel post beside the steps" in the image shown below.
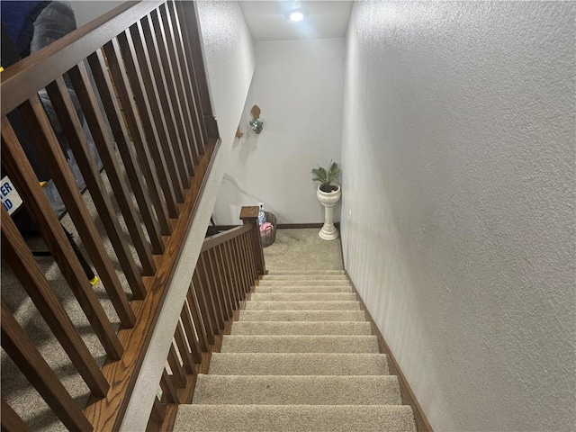
<svg viewBox="0 0 576 432"><path fill-rule="evenodd" d="M247 294L266 274L258 229L258 207L242 207L244 225L204 240L148 431L172 430L178 404L191 403L196 375L207 373L211 353L220 350Z"/></svg>

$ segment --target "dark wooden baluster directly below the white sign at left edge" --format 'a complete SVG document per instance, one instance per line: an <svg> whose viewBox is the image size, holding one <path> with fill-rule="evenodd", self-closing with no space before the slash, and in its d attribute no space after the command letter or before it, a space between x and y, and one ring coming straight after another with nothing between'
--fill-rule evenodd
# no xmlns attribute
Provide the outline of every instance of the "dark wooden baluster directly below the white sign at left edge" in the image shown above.
<svg viewBox="0 0 576 432"><path fill-rule="evenodd" d="M58 297L52 292L40 266L32 257L14 221L2 206L2 257L30 295L42 318L76 366L94 396L104 397L110 386L94 357L80 338Z"/></svg>

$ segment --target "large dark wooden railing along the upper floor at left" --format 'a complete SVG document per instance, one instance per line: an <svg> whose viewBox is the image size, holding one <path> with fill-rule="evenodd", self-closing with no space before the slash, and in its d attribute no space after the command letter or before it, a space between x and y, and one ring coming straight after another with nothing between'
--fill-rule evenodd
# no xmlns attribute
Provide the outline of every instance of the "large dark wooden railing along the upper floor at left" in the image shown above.
<svg viewBox="0 0 576 432"><path fill-rule="evenodd" d="M4 263L30 296L37 315L46 321L54 343L64 348L85 382L91 394L87 406L79 406L71 398L23 324L14 318L14 311L4 303L6 286L2 347L68 429L117 430L220 145L195 4L174 0L126 2L7 67L0 79L3 169L23 198L23 208L38 227L63 275L63 283L76 297L107 358L104 365L94 359L4 207ZM75 96L71 96L67 85L73 86ZM53 130L54 119L49 119L40 101L38 92L42 88L58 116L97 215L88 210L85 194L78 191ZM94 293L60 225L60 215L52 210L40 186L17 128L7 117L15 110L22 114L26 129L49 165L51 179L107 299ZM103 171L88 147L82 121L94 139ZM247 270L235 266L232 276L221 267L223 264L213 267L212 263L216 253L232 259L237 249L244 250L247 229L242 232L243 236L231 240L233 244L202 253L202 271L193 282L202 290L200 295L208 293L203 291L211 286L208 284L216 284L211 279L214 275L234 277L238 284L234 304L238 302L240 289L247 283ZM112 252L106 248L107 241ZM242 253L245 255L241 259L247 260L247 252ZM124 275L125 284L119 275ZM250 276L255 273L251 271ZM196 294L189 293L189 301ZM229 298L210 298L209 305L201 298L203 307L218 304L220 312L228 312L232 305ZM104 311L103 302L107 301L112 302L117 322ZM191 308L184 306L183 321L176 330L180 347L184 340L191 340L188 334L195 320L216 318L207 311L191 318L186 315ZM220 326L221 317L210 324ZM115 331L117 325L120 329ZM205 348L209 339L206 335L196 343ZM198 361L200 351L195 349L186 360ZM171 365L176 366L176 357L172 354L168 358ZM186 365L186 372L190 372L190 364ZM25 407L11 407L9 402L2 399L2 428L26 430L17 414L25 412ZM158 404L155 407L153 414L159 415L163 408Z"/></svg>

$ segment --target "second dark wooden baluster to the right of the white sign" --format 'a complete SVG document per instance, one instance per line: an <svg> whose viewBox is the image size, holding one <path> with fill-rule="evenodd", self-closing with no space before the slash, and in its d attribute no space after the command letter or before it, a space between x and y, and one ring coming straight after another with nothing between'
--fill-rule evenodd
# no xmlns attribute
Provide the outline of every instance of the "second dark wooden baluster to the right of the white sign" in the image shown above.
<svg viewBox="0 0 576 432"><path fill-rule="evenodd" d="M126 294L122 290L112 262L106 255L102 238L100 238L100 234L98 234L94 226L94 221L78 191L70 166L68 166L62 149L58 144L58 139L49 124L46 112L44 112L42 103L40 103L40 98L38 96L31 97L28 102L22 104L21 112L27 121L31 136L41 148L41 153L50 168L52 180L58 187L58 192L66 205L70 218L74 221L88 255L92 258L94 267L114 305L121 325L125 328L131 328L136 321L134 312L131 310L130 304L128 304Z"/></svg>

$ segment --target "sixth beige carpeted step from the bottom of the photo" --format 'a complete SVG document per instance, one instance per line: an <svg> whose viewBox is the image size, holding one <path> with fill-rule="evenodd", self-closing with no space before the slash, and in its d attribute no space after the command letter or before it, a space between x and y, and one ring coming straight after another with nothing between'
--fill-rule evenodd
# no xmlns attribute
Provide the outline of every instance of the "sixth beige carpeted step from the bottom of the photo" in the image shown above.
<svg viewBox="0 0 576 432"><path fill-rule="evenodd" d="M238 321L365 321L364 311L240 311Z"/></svg>

